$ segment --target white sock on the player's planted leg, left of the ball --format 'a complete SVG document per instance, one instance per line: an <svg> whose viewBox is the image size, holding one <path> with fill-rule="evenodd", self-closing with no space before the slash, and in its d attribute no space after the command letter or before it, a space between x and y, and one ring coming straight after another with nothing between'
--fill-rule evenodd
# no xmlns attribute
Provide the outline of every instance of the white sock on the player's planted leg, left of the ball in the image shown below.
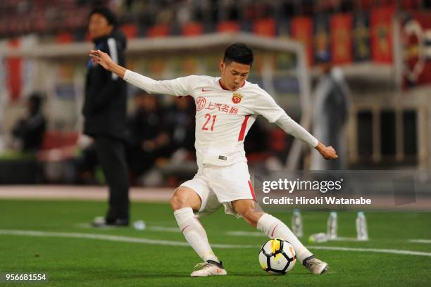
<svg viewBox="0 0 431 287"><path fill-rule="evenodd" d="M182 234L184 234L187 242L192 246L194 251L202 258L202 260L213 260L220 262L217 256L214 255L213 250L208 242L208 237L201 222L197 219L192 208L181 208L175 210L175 219L180 227Z"/></svg>

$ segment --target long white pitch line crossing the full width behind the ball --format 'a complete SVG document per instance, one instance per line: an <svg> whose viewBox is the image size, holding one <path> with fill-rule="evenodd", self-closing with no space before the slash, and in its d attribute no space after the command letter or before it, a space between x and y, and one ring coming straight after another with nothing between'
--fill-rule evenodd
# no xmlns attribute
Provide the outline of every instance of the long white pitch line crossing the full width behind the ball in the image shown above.
<svg viewBox="0 0 431 287"><path fill-rule="evenodd" d="M63 237L63 238L85 238L104 241L128 242L128 243L143 243L153 245L170 245L189 247L189 244L182 241L168 241L148 238L136 238L127 236L113 236L107 234L82 234L75 232L52 232L52 231L34 231L34 230L10 230L0 229L0 235L18 235L18 236L36 236L36 237ZM260 248L260 245L234 245L234 244L211 244L215 248ZM311 249L320 250L337 250L337 251L354 251L354 252L369 252L369 253L389 253L400 255L416 255L431 257L431 253L413 251L413 250L396 250L396 249L377 249L377 248L349 248L337 246L307 246Z"/></svg>

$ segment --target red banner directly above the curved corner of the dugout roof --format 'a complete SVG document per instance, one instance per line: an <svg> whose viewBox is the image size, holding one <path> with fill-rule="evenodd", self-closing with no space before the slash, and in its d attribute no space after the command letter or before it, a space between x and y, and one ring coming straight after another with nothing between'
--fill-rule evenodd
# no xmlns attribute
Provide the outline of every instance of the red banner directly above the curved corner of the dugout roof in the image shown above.
<svg viewBox="0 0 431 287"><path fill-rule="evenodd" d="M308 65L313 65L313 22L308 17L295 17L290 23L292 38L298 40L306 49Z"/></svg>

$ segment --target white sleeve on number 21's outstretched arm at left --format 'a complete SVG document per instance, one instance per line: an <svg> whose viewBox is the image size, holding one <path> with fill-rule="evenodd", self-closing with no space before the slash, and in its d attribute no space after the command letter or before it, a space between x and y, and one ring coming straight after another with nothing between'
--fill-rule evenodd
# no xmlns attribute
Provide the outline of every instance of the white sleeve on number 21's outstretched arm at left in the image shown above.
<svg viewBox="0 0 431 287"><path fill-rule="evenodd" d="M124 80L130 84L144 89L149 94L168 94L173 96L192 96L192 89L190 88L190 78L179 77L177 79L156 81L144 75L140 75L137 72L126 70L124 74Z"/></svg>

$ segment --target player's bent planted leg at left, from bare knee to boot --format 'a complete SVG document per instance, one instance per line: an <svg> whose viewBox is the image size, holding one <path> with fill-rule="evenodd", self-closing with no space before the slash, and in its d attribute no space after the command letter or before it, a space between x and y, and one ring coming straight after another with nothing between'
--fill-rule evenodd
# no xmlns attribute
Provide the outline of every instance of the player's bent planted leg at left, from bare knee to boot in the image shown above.
<svg viewBox="0 0 431 287"><path fill-rule="evenodd" d="M208 195L208 192L206 194ZM201 209L201 196L203 195L200 194L199 196L196 191L187 186L180 186L169 200L182 234L184 234L187 242L199 257L204 260L203 263L196 265L196 267L201 269L192 272L191 276L226 275L225 268L213 253L204 227L202 227L201 222L194 215L194 211L198 212Z"/></svg>

